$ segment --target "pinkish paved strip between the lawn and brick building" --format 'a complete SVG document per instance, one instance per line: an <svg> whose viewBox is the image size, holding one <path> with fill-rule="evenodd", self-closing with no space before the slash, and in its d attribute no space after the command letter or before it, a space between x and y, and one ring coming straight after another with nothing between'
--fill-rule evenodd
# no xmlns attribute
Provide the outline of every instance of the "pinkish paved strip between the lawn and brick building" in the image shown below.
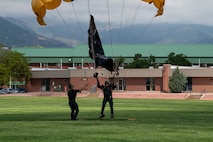
<svg viewBox="0 0 213 142"><path fill-rule="evenodd" d="M113 98L142 98L142 99L177 99L184 100L188 95L193 93L162 93L162 92L146 92L146 91L122 91L113 92ZM19 94L1 94L0 96L63 96L66 97L66 92L29 92ZM103 93L90 94L82 92L78 97L103 97ZM200 100L213 100L213 93L205 93Z"/></svg>

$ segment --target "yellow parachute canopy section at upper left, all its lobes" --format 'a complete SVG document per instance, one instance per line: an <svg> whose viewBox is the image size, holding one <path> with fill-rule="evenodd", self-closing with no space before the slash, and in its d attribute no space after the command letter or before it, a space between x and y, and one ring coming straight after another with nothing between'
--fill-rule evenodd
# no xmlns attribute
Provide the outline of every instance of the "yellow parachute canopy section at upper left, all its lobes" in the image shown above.
<svg viewBox="0 0 213 142"><path fill-rule="evenodd" d="M72 2L74 0L63 0L65 2ZM46 25L44 22L44 17L46 14L46 10L53 10L59 7L61 4L61 0L32 0L31 5L32 9L37 16L37 22L40 25Z"/></svg>

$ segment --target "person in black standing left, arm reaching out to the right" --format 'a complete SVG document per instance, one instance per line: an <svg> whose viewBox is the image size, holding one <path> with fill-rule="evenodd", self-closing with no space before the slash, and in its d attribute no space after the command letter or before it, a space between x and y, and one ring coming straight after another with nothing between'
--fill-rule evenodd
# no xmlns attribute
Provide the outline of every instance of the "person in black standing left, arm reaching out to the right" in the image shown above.
<svg viewBox="0 0 213 142"><path fill-rule="evenodd" d="M82 89L74 89L74 86L72 84L69 84L69 91L68 91L68 98L69 98L69 106L71 109L71 120L77 120L79 108L78 104L76 102L76 95L78 92L81 92L87 85L85 85Z"/></svg>

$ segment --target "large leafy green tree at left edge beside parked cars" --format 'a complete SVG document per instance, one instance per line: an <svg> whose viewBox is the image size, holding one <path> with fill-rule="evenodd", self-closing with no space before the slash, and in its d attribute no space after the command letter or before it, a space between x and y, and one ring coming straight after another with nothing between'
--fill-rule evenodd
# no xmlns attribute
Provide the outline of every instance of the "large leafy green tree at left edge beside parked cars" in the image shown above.
<svg viewBox="0 0 213 142"><path fill-rule="evenodd" d="M11 50L1 50L0 72L1 76L4 76L0 80L1 85L8 85L10 77L20 82L27 82L31 77L27 58L23 54Z"/></svg>

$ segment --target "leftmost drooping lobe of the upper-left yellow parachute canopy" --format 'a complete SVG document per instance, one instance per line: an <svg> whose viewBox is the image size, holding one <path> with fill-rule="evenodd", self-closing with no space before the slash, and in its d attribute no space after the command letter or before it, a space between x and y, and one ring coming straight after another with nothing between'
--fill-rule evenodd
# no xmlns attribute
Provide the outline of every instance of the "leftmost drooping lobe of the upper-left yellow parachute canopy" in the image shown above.
<svg viewBox="0 0 213 142"><path fill-rule="evenodd" d="M46 14L46 8L41 0L32 0L32 9L37 16L37 21L40 25L46 25L43 18Z"/></svg>

